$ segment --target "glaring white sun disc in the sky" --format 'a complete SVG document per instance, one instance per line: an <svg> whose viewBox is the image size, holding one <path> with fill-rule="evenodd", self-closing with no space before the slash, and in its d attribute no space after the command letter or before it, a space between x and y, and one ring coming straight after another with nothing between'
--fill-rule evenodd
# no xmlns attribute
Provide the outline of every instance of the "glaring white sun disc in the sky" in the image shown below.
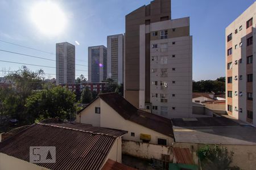
<svg viewBox="0 0 256 170"><path fill-rule="evenodd" d="M51 1L36 3L31 8L31 18L44 35L60 35L66 25L64 12Z"/></svg>

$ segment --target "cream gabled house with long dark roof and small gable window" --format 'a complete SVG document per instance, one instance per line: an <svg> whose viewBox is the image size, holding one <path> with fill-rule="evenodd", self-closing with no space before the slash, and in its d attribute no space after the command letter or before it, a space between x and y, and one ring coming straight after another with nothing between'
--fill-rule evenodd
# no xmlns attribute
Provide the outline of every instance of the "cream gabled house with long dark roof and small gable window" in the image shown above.
<svg viewBox="0 0 256 170"><path fill-rule="evenodd" d="M78 112L76 121L126 130L128 133L123 135L123 139L127 141L164 146L171 146L174 142L170 119L141 111L115 93L98 95Z"/></svg>

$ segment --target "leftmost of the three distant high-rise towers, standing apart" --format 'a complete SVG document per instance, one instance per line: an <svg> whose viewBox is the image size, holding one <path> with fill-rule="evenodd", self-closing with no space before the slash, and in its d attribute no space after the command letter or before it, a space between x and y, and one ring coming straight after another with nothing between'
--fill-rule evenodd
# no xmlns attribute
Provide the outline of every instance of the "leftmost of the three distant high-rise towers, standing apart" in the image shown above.
<svg viewBox="0 0 256 170"><path fill-rule="evenodd" d="M56 44L56 84L75 83L75 45Z"/></svg>

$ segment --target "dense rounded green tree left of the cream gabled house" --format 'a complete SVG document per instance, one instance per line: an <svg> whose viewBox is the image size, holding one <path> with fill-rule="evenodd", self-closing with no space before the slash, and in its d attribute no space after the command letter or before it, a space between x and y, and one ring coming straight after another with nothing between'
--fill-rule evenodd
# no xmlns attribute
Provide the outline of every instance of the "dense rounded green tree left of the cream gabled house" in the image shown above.
<svg viewBox="0 0 256 170"><path fill-rule="evenodd" d="M36 118L71 119L75 101L75 94L60 86L35 92L26 100L27 120L32 123Z"/></svg>

